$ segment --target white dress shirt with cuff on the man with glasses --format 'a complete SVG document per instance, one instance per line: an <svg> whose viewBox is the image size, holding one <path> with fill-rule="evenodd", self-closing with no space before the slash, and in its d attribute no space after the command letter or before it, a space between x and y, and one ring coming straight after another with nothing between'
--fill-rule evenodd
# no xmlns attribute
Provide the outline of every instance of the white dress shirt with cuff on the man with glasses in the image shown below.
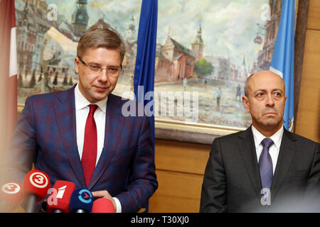
<svg viewBox="0 0 320 227"><path fill-rule="evenodd" d="M77 145L78 145L78 153L80 160L82 159L82 151L83 151L83 143L85 140L85 123L87 121L87 115L89 114L89 106L91 103L85 99L79 90L79 84L75 86L75 128L77 133ZM105 114L107 110L107 99L102 99L97 103L97 110L93 115L95 118L95 125L97 126L97 160L95 165L97 166L97 162L99 161L100 155L102 153L102 149L105 143ZM113 197L116 206L117 206L117 213L121 213L121 204L119 199Z"/></svg>

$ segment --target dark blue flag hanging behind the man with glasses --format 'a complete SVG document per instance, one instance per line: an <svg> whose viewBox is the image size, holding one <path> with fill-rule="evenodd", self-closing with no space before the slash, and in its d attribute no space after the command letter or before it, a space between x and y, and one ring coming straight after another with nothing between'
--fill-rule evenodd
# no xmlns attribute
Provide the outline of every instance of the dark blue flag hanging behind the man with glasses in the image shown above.
<svg viewBox="0 0 320 227"><path fill-rule="evenodd" d="M151 102L151 106L154 106L154 100L151 98L151 100L145 100L145 97L148 96L148 92L154 92L157 21L158 0L142 0L138 31L137 58L134 68L134 94L139 104L143 106L146 104L150 106L149 102ZM154 97L154 95L151 96ZM138 115L139 114L141 113L138 113ZM151 121L151 136L154 141L154 114L153 112L148 114ZM149 203L147 203L141 211L148 212Z"/></svg>

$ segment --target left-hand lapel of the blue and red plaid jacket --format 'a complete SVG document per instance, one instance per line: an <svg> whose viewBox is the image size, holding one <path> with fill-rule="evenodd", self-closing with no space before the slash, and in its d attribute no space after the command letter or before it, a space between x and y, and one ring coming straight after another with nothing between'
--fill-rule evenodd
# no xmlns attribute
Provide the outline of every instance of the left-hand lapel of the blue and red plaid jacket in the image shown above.
<svg viewBox="0 0 320 227"><path fill-rule="evenodd" d="M85 177L78 153L77 135L75 126L75 86L58 94L58 104L55 105L55 118L65 152L75 176L80 184L85 187Z"/></svg>

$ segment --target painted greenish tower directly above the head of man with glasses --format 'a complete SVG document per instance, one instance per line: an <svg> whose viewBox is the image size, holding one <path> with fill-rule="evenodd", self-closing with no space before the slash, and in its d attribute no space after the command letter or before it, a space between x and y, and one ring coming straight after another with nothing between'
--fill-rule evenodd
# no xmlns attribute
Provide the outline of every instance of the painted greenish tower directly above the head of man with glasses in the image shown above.
<svg viewBox="0 0 320 227"><path fill-rule="evenodd" d="M75 35L81 36L87 30L87 21L89 16L87 15L87 0L76 0L76 9L71 16L71 23Z"/></svg>

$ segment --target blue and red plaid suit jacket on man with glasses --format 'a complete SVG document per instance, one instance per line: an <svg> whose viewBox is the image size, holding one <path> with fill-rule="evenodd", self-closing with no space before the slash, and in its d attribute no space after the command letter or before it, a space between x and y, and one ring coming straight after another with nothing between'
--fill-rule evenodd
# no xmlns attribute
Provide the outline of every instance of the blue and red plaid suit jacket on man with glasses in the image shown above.
<svg viewBox="0 0 320 227"><path fill-rule="evenodd" d="M74 88L26 99L9 147L11 181L22 182L34 163L48 174L51 187L57 180L86 187L76 141ZM122 116L126 101L108 96L105 144L88 189L107 190L117 196L122 212L136 212L158 183L149 118Z"/></svg>

